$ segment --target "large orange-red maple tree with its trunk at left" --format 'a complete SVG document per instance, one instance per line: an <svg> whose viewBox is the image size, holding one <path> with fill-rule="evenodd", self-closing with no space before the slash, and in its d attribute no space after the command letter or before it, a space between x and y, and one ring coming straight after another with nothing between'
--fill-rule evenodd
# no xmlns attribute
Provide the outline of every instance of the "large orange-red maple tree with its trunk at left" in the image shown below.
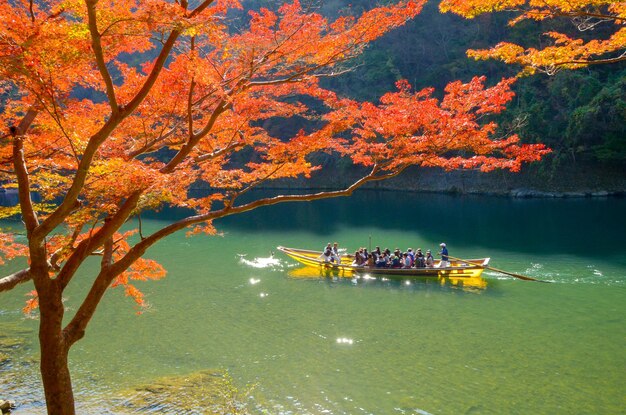
<svg viewBox="0 0 626 415"><path fill-rule="evenodd" d="M259 206L347 196L411 165L517 171L549 151L498 136L489 121L513 96L512 80L491 87L484 78L453 82L443 99L401 81L378 104L320 85L423 3L329 21L295 0L250 12L238 30L228 24L241 9L236 0L0 5L0 117L7 126L0 180L19 196L17 208L1 212L20 215L27 239L0 234L0 253L28 259L27 268L0 279L0 291L34 283L26 308L39 308L49 413L74 413L68 353L105 291L123 286L142 305L133 281L165 276L143 258L164 237L184 229L212 234L215 219ZM130 63L137 57L139 64ZM84 91L90 99L80 98ZM264 128L294 117L317 127L289 138ZM321 168L310 156L319 152L369 172L345 189L241 202L266 181L310 178ZM190 197L199 182L211 191ZM194 213L150 235L130 220L163 205ZM63 292L93 255L101 258L99 271L65 316Z"/></svg>

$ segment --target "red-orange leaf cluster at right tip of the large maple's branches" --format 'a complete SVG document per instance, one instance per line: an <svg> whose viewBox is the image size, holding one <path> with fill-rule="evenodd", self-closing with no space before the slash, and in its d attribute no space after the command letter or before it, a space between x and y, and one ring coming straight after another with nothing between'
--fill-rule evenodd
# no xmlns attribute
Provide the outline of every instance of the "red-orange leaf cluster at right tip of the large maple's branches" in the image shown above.
<svg viewBox="0 0 626 415"><path fill-rule="evenodd" d="M515 135L497 137L495 123L482 120L504 110L513 97L512 82L505 79L489 88L484 78L453 82L441 102L432 97L432 90L413 93L401 82L399 91L385 95L381 105L340 109L331 121L351 123L354 135L348 153L358 164L376 164L386 171L406 165L518 171L522 163L538 160L549 150L520 145ZM339 114L345 114L344 119Z"/></svg>

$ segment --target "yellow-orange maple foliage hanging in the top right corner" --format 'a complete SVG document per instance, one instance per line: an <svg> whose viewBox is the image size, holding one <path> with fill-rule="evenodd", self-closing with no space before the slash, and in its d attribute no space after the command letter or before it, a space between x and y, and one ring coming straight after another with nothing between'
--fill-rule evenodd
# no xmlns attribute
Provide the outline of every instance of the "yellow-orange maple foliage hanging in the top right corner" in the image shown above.
<svg viewBox="0 0 626 415"><path fill-rule="evenodd" d="M626 61L626 2L606 0L443 0L443 12L474 18L490 12L512 12L513 26L524 20L570 19L580 32L590 33L598 26L611 25L606 39L573 38L565 33L545 33L551 45L542 49L501 42L491 49L470 50L476 59L499 59L523 66L521 74L537 71L554 74L559 69Z"/></svg>

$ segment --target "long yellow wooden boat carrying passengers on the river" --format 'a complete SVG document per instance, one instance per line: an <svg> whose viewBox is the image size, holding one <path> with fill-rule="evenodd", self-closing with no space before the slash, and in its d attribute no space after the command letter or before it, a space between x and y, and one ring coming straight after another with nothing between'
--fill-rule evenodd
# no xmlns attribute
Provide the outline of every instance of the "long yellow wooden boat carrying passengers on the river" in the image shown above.
<svg viewBox="0 0 626 415"><path fill-rule="evenodd" d="M276 249L285 255L309 267L332 271L338 276L350 277L357 275L385 275L391 278L480 278L489 264L490 258L468 259L468 262L450 261L447 267L441 267L441 261L435 260L432 268L378 268L352 265L352 255L342 255L341 263L327 262L321 251L296 249L279 246Z"/></svg>

